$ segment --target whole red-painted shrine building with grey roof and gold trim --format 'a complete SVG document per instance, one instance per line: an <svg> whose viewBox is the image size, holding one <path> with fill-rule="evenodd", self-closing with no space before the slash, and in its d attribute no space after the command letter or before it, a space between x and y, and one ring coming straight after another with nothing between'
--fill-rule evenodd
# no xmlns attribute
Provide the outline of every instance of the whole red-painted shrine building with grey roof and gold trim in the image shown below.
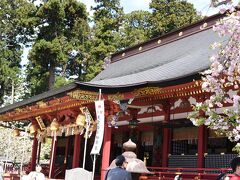
<svg viewBox="0 0 240 180"><path fill-rule="evenodd" d="M193 126L187 119L191 105L209 96L201 90L199 72L210 65L209 45L218 38L212 26L221 16L211 16L112 55L111 64L90 82L75 82L0 109L1 121L29 121L35 126L30 170L38 158L37 137L43 128L39 119L45 128L53 120L62 128L52 144L53 167L47 176L63 178L66 169L82 167L85 139L76 119L80 107L87 107L96 118L94 101L99 89L105 100L104 142L96 164L101 180L129 138L137 144L137 157L149 170L227 168L236 156L234 144L204 126ZM204 23L207 26L203 27ZM51 133L47 137L52 137ZM93 127L87 144L85 168L89 171L94 137Z"/></svg>

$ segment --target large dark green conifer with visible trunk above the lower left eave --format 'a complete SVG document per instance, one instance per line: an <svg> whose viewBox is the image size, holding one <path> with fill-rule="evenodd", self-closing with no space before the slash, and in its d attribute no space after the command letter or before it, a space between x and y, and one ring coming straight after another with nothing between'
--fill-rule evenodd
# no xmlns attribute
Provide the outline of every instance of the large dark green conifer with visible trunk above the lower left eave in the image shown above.
<svg viewBox="0 0 240 180"><path fill-rule="evenodd" d="M66 84L64 79L71 75L84 79L84 42L89 34L85 5L77 0L49 0L40 5L36 17L37 34L27 66L31 95Z"/></svg>

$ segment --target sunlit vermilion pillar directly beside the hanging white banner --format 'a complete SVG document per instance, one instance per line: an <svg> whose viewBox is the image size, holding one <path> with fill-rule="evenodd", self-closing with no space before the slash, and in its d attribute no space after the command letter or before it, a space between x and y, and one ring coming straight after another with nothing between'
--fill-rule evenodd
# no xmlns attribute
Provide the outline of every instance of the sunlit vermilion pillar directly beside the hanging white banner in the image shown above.
<svg viewBox="0 0 240 180"><path fill-rule="evenodd" d="M106 175L106 170L109 166L109 160L110 160L110 154L111 154L111 137L112 137L112 128L109 128L107 123L105 123L104 136L103 136L101 180L104 180Z"/></svg>

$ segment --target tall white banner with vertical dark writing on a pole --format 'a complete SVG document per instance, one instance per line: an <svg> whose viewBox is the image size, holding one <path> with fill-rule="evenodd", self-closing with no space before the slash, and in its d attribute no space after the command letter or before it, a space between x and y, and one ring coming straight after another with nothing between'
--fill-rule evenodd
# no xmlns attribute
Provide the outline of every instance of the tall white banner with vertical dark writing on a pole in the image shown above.
<svg viewBox="0 0 240 180"><path fill-rule="evenodd" d="M95 101L95 109L97 116L97 131L91 154L99 154L103 142L104 134L104 101Z"/></svg>

